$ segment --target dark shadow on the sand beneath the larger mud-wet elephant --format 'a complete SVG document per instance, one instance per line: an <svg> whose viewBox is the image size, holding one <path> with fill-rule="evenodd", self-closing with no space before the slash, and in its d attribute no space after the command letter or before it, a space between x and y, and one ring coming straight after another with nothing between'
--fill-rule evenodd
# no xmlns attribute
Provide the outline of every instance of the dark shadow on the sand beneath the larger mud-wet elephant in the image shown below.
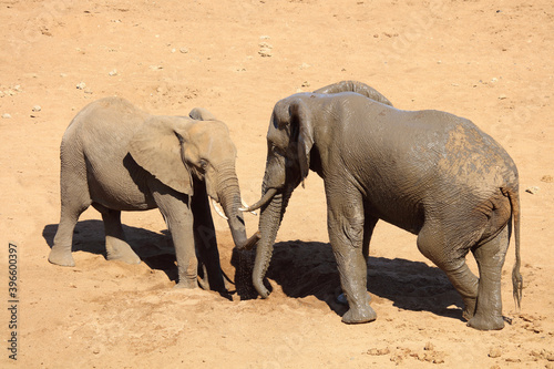
<svg viewBox="0 0 554 369"><path fill-rule="evenodd" d="M250 277L254 258L255 250L233 255L236 289L242 299L257 297ZM342 290L330 244L300 240L275 244L264 280L270 289L267 278L278 284L288 297L315 296L339 316L348 310L337 301ZM425 263L370 256L367 287L372 304L384 298L399 309L462 319L462 298L441 269Z"/></svg>

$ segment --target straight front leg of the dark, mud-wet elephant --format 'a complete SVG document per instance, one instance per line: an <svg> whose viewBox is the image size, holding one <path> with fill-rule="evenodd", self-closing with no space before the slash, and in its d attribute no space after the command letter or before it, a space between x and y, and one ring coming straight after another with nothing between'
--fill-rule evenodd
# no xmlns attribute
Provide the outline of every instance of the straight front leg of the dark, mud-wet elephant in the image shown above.
<svg viewBox="0 0 554 369"><path fill-rule="evenodd" d="M363 255L363 204L356 188L326 188L327 222L340 284L350 309L342 321L358 324L372 321L376 312L369 306L367 293L367 263Z"/></svg>

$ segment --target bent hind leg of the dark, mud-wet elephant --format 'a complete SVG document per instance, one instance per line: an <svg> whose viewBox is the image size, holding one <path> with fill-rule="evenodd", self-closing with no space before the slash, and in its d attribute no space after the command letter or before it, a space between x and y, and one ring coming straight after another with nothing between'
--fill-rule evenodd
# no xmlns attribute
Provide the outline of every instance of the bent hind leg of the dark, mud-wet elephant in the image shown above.
<svg viewBox="0 0 554 369"><path fill-rule="evenodd" d="M475 312L479 279L465 264L469 247L464 247L464 240L460 238L450 239L444 228L429 222L418 235L418 248L447 274L462 296L465 306L463 317L469 320Z"/></svg>

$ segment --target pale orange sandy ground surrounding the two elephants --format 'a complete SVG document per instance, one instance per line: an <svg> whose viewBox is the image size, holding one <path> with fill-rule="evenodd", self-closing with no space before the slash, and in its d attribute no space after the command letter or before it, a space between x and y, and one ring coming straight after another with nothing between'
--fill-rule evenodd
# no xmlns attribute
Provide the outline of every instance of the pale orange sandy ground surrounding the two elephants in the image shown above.
<svg viewBox="0 0 554 369"><path fill-rule="evenodd" d="M22 368L554 368L551 0L0 1L0 366L14 363L7 348L16 332ZM461 299L416 236L384 223L368 263L378 319L341 324L315 173L285 215L266 300L173 289L157 211L123 215L140 265L105 260L92 208L76 227L76 266L48 263L61 136L89 102L120 95L155 114L209 109L230 129L253 203L275 102L347 79L400 109L471 119L516 162L525 287L516 311L512 243L503 330L468 328ZM215 222L233 279L252 255L233 257L226 223ZM246 222L252 234L258 221ZM17 329L9 243L18 250Z"/></svg>

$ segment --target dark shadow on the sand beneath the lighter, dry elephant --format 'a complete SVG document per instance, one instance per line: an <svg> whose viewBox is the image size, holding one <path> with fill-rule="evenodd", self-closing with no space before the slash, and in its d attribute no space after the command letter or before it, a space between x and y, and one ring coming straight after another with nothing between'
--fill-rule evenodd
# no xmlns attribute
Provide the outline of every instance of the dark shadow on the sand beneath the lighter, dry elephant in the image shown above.
<svg viewBox="0 0 554 369"><path fill-rule="evenodd" d="M50 247L54 244L57 230L58 224L49 224L42 230L42 237L44 237ZM173 240L168 230L165 229L162 230L162 234L158 234L144 228L123 225L123 232L129 245L131 245L143 263L151 269L164 271L170 280L177 280L175 248L173 247ZM103 222L78 222L73 234L72 250L106 257Z"/></svg>

